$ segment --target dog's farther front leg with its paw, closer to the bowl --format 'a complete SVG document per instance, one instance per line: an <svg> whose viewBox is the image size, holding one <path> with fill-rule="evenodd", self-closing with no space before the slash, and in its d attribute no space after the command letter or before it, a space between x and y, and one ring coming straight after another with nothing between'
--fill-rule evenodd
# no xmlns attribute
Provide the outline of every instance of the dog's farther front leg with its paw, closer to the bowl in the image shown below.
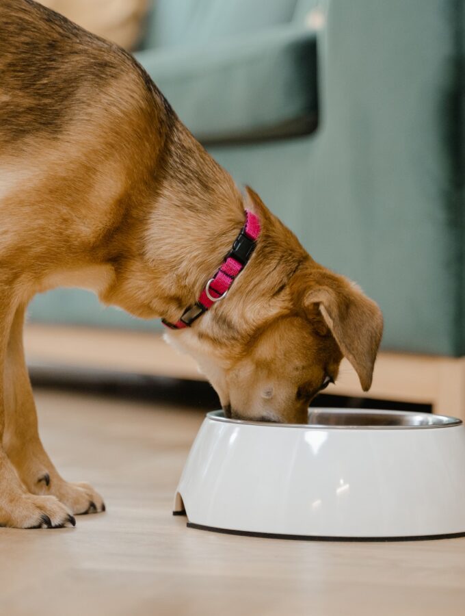
<svg viewBox="0 0 465 616"><path fill-rule="evenodd" d="M4 446L25 487L34 494L55 496L72 513L103 511L101 496L86 483L68 483L55 469L38 433L36 406L23 352L24 308L12 323L6 360L6 426Z"/></svg>

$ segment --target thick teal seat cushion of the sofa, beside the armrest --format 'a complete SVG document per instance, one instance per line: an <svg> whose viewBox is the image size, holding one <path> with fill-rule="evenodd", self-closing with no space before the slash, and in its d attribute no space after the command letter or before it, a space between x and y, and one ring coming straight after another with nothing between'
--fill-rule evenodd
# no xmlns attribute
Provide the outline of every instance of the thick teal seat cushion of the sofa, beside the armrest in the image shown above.
<svg viewBox="0 0 465 616"><path fill-rule="evenodd" d="M209 47L136 54L202 142L308 133L317 123L313 31L284 25Z"/></svg>

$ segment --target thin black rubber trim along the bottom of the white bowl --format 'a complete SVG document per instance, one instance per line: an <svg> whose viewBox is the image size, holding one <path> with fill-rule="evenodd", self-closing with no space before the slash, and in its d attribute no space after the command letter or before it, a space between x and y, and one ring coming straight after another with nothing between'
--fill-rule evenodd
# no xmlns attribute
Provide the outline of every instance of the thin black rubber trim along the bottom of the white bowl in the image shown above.
<svg viewBox="0 0 465 616"><path fill-rule="evenodd" d="M173 515L181 515L173 511ZM183 514L184 515L184 514ZM242 537L262 537L263 539L289 539L291 541L344 541L345 543L388 543L390 541L432 541L436 539L457 539L465 537L465 532L450 532L446 535L412 535L410 537L321 537L319 535L279 535L274 532L251 532L249 530L227 530L214 526L203 526L187 522L187 528L219 532L222 535L241 535Z"/></svg>

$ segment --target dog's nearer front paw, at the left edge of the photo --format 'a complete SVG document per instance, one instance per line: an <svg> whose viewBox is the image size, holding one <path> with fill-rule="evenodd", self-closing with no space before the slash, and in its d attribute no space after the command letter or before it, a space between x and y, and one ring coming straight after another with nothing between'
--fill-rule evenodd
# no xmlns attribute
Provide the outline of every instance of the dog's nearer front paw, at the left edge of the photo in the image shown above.
<svg viewBox="0 0 465 616"><path fill-rule="evenodd" d="M68 508L55 496L22 493L0 505L0 526L10 528L64 528L75 526Z"/></svg>

